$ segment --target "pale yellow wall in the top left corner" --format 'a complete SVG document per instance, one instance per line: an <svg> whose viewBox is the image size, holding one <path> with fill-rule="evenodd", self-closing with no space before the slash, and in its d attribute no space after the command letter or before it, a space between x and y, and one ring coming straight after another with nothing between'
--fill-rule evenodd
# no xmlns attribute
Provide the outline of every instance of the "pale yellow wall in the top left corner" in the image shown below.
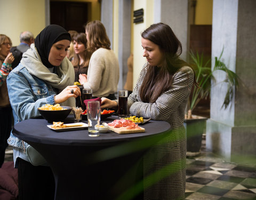
<svg viewBox="0 0 256 200"><path fill-rule="evenodd" d="M36 36L45 27L45 0L1 0L0 6L0 33L9 36L13 46L20 44L22 31Z"/></svg>

